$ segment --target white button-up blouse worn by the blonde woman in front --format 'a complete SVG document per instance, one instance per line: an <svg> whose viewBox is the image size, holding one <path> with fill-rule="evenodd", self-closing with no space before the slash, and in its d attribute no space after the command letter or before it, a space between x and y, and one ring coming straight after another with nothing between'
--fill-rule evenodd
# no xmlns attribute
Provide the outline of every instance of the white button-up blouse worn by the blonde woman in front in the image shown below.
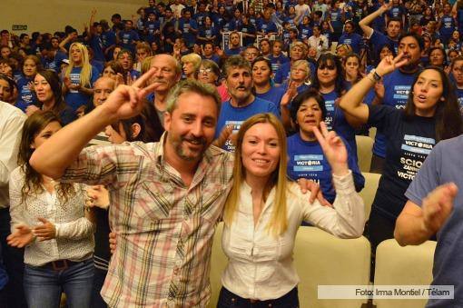
<svg viewBox="0 0 463 308"><path fill-rule="evenodd" d="M222 274L222 285L243 298L270 300L281 297L299 283L292 266L294 239L300 223L306 221L340 238L360 237L365 224L364 204L356 193L352 174L333 175L336 188L334 208L317 200L309 203L309 194L300 193L291 183L287 194L288 229L275 237L268 233L275 188L254 227L251 187L244 181L238 210L231 227L222 233L222 249L229 263Z"/></svg>

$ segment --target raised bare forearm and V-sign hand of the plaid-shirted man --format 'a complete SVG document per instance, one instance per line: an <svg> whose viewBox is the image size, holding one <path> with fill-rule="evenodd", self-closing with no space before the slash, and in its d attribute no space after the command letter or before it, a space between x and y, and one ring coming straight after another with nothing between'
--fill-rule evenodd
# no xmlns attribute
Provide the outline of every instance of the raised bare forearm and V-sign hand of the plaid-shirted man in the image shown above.
<svg viewBox="0 0 463 308"><path fill-rule="evenodd" d="M153 83L145 86L154 73L155 70L151 69L131 86L119 85L101 107L64 126L46 141L46 146L36 149L30 164L39 174L60 178L84 146L105 126L142 112L144 97L160 85Z"/></svg>

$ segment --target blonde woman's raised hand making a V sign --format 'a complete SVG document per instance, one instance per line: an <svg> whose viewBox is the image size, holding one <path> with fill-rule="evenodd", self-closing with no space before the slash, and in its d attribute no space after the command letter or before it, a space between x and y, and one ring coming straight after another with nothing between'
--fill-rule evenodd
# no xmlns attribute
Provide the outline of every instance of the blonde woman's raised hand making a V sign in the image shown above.
<svg viewBox="0 0 463 308"><path fill-rule="evenodd" d="M320 133L321 130L321 133ZM342 176L348 173L348 153L340 136L334 131L328 131L326 124L320 122L320 130L313 127L312 132L317 137L325 157L330 163L334 175Z"/></svg>

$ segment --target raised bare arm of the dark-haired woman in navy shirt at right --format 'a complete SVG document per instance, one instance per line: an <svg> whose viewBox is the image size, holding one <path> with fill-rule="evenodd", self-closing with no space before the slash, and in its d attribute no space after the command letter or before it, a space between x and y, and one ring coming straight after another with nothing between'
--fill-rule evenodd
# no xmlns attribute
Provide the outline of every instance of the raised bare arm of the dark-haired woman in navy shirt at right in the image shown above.
<svg viewBox="0 0 463 308"><path fill-rule="evenodd" d="M369 75L366 75L360 82L354 84L348 93L344 94L340 99L341 109L354 119L357 123L350 123L351 125L356 124L366 124L369 119L369 107L367 104L362 103L365 95L368 94L369 89L376 84L377 79L382 78L384 75L388 75L396 68L405 65L407 59L402 59L403 54L399 54L395 58L392 58L391 55L386 56L381 60L378 67L374 72L370 72ZM379 77L379 78L378 78ZM346 117L348 122L350 121L349 116Z"/></svg>

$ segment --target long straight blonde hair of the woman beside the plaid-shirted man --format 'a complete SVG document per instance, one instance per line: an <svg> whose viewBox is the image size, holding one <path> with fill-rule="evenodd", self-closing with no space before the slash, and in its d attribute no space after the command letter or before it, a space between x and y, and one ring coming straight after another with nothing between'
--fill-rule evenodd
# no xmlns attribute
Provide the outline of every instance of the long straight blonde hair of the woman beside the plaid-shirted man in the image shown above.
<svg viewBox="0 0 463 308"><path fill-rule="evenodd" d="M267 230L273 235L278 236L288 229L288 218L286 213L286 192L288 181L286 178L286 133L280 120L273 114L255 114L241 124L238 132L235 149L235 163L233 169L233 186L223 213L223 221L227 226L231 226L233 218L238 210L238 202L240 201L241 184L246 176L246 170L242 166L242 141L244 134L255 124L268 123L275 128L278 135L278 144L280 145L280 163L279 167L271 174L271 179L267 184L264 192L264 198L268 196L273 186L276 186L275 200L273 201L273 214L271 221L267 226Z"/></svg>

